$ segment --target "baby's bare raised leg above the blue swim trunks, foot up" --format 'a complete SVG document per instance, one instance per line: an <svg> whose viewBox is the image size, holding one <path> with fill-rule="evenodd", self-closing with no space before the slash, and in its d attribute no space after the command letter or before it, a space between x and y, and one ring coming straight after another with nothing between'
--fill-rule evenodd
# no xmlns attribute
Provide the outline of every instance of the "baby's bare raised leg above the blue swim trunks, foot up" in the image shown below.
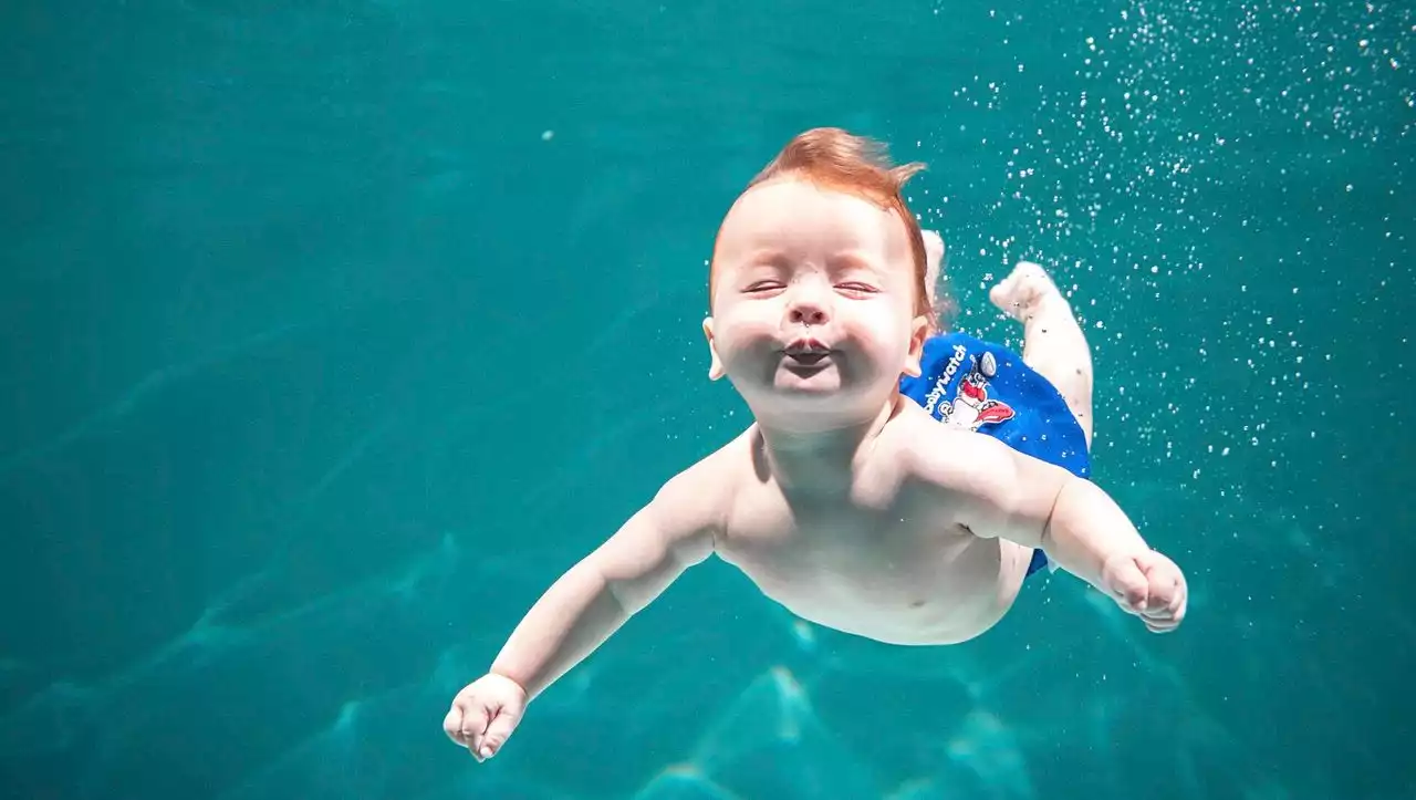
<svg viewBox="0 0 1416 800"><path fill-rule="evenodd" d="M988 293L1003 313L1022 323L1022 361L1062 392L1092 446L1092 350L1072 306L1048 273L1018 262Z"/></svg>

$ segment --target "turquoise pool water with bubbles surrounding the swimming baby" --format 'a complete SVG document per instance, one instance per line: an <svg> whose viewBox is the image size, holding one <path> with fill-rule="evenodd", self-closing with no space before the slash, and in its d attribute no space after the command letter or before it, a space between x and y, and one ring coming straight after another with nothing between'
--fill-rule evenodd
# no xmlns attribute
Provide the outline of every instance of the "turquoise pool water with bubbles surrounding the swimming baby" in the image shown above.
<svg viewBox="0 0 1416 800"><path fill-rule="evenodd" d="M1395 799L1416 13L110 3L0 25L0 787L33 799ZM1174 555L973 643L691 571L474 763L535 596L745 422L714 228L794 133L930 170L960 326L1073 287L1096 480Z"/></svg>

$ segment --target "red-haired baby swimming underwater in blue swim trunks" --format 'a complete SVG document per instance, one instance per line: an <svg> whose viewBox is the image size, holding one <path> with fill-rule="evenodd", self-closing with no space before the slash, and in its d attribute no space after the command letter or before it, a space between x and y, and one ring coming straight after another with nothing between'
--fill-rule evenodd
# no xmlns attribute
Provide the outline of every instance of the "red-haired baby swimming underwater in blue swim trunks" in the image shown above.
<svg viewBox="0 0 1416 800"><path fill-rule="evenodd" d="M1008 354L995 345L970 354L937 336L926 273L942 244L926 245L901 197L919 168L816 129L733 202L702 327L709 378L732 382L753 423L562 575L490 673L457 692L443 729L477 760L501 749L532 698L714 554L797 616L885 643L973 639L1041 565L1150 630L1180 624L1181 571L1080 477L1085 466L1059 466L1085 459L1085 443L1049 463L1025 455L1065 447L1045 428L1024 446L980 435L1029 413L988 395L1008 367L1044 375L1089 439L1090 357L1066 300L1027 263L991 299L1024 321L1031 370L1000 364Z"/></svg>

